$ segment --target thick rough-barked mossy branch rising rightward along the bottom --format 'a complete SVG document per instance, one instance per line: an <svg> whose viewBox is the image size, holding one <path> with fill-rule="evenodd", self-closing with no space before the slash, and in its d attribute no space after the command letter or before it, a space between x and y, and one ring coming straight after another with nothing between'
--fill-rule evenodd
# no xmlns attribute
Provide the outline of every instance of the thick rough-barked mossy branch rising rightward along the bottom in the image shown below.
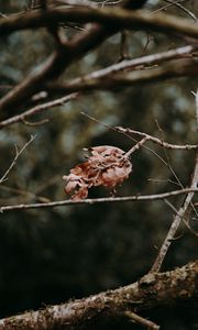
<svg viewBox="0 0 198 330"><path fill-rule="evenodd" d="M172 272L147 274L116 290L2 319L0 330L74 330L98 318L114 318L134 309L141 312L186 301L188 306L191 301L198 307L198 261Z"/></svg>

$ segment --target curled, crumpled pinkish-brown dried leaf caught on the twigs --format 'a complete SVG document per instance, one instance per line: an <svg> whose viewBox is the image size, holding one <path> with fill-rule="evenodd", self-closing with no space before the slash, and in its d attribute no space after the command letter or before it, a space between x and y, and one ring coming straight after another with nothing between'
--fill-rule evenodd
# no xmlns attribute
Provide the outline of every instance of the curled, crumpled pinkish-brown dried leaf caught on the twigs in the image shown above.
<svg viewBox="0 0 198 330"><path fill-rule="evenodd" d="M66 180L65 193L73 194L73 199L85 199L94 186L114 189L132 172L131 162L119 147L100 145L87 151L90 154L88 161L76 165L69 175L63 177Z"/></svg>

